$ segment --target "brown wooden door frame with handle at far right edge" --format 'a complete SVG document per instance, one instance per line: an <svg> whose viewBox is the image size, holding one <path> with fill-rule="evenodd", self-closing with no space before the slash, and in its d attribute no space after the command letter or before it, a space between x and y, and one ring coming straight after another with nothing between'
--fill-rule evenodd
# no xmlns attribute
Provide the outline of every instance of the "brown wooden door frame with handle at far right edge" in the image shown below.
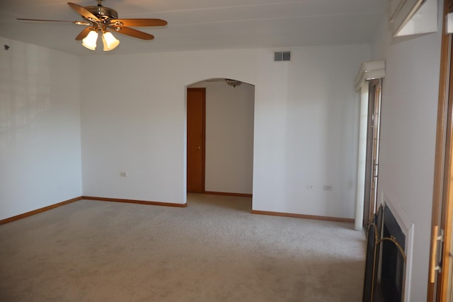
<svg viewBox="0 0 453 302"><path fill-rule="evenodd" d="M432 220L427 301L451 301L453 213L453 53L446 34L447 13L453 0L444 1L440 53L439 99L432 190ZM438 269L442 267L442 269Z"/></svg>

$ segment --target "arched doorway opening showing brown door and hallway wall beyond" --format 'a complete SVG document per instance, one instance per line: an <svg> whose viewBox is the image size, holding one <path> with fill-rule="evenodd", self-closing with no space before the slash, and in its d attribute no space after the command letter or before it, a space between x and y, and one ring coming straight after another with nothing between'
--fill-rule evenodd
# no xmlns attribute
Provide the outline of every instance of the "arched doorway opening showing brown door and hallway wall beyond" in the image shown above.
<svg viewBox="0 0 453 302"><path fill-rule="evenodd" d="M187 88L187 191L201 193L200 186L193 190L190 184L195 169L197 181L203 182L202 193L251 197L255 86L215 78ZM191 100L194 95L197 100ZM201 105L203 99L205 105ZM203 133L191 133L193 127ZM203 161L200 163L198 158Z"/></svg>

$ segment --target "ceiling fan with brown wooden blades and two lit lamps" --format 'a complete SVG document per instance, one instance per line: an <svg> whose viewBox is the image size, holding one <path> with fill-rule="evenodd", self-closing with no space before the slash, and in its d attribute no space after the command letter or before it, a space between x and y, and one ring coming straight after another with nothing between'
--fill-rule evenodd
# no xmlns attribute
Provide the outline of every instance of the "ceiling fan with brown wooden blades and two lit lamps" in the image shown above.
<svg viewBox="0 0 453 302"><path fill-rule="evenodd" d="M142 40L152 40L154 35L144 33L140 30L135 30L130 27L138 26L164 26L167 21L151 18L129 18L119 19L118 13L113 8L102 6L101 1L97 0L97 6L79 6L68 2L67 4L76 13L79 13L84 21L57 21L57 20L40 20L40 19L24 19L17 18L21 21L44 21L44 22L69 22L76 25L88 25L84 30L76 36L76 40L82 40L82 45L89 50L96 50L96 41L98 40L98 32L102 33L104 51L113 50L120 44L120 41L113 37L109 30L131 37L137 37Z"/></svg>

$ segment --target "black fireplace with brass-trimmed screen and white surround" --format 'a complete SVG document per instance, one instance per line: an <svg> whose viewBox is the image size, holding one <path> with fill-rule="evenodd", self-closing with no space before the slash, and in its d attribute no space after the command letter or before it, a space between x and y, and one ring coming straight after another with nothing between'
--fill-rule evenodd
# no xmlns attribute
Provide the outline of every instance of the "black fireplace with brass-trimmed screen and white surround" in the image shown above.
<svg viewBox="0 0 453 302"><path fill-rule="evenodd" d="M382 194L367 229L363 301L410 301L413 223Z"/></svg>

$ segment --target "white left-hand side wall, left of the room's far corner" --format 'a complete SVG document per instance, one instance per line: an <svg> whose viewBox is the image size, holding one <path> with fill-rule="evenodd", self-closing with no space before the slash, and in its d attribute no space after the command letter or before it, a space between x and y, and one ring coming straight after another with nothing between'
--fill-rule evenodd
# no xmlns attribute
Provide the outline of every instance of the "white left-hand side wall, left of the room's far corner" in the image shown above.
<svg viewBox="0 0 453 302"><path fill-rule="evenodd" d="M81 196L79 59L0 37L0 219Z"/></svg>

